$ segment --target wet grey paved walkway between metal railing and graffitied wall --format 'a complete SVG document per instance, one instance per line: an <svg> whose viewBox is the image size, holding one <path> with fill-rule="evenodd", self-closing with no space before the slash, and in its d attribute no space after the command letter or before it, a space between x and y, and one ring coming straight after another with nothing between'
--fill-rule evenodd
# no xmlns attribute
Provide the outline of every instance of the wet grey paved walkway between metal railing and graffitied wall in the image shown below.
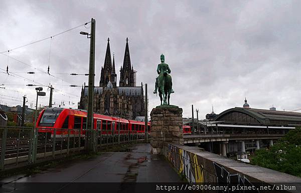
<svg viewBox="0 0 301 193"><path fill-rule="evenodd" d="M31 176L12 176L0 180L0 192L26 192L28 182L35 186L35 191L43 193L47 190L65 192L71 183L75 188L74 184L115 182L110 190L113 188L117 192L126 189L124 184L129 184L127 182L182 182L168 161L163 156L153 155L150 150L149 143L139 143L133 145L130 152L104 152L96 158L58 165Z"/></svg>

